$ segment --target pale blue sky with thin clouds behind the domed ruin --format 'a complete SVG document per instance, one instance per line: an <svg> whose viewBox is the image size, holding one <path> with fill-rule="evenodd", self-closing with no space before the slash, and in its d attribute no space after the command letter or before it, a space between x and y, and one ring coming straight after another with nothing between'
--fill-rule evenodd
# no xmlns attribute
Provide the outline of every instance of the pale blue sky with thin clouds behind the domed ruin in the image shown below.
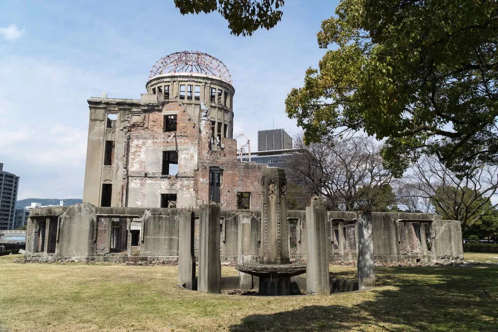
<svg viewBox="0 0 498 332"><path fill-rule="evenodd" d="M81 198L90 97L139 99L152 65L182 50L222 60L236 89L234 136L300 130L284 100L325 50L316 33L338 1L288 0L282 21L251 37L218 13L182 16L173 0L0 1L0 161L18 199ZM242 140L239 140L243 143Z"/></svg>

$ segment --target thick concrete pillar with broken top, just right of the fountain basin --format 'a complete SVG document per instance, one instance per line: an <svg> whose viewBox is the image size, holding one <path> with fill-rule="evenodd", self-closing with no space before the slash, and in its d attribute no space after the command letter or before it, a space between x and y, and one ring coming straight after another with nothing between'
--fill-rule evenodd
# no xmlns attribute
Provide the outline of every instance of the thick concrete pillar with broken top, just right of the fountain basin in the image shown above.
<svg viewBox="0 0 498 332"><path fill-rule="evenodd" d="M311 198L310 205L306 207L306 221L308 223L306 292L308 294L330 295L325 198Z"/></svg>

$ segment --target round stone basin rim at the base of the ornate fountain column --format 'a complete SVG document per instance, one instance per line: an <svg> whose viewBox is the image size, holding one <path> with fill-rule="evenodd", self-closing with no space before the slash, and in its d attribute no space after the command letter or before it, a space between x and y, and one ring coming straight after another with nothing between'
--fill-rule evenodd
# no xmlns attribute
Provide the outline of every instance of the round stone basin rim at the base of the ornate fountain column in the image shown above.
<svg viewBox="0 0 498 332"><path fill-rule="evenodd" d="M281 265L243 263L235 265L235 269L260 278L282 278L306 273L306 263Z"/></svg>

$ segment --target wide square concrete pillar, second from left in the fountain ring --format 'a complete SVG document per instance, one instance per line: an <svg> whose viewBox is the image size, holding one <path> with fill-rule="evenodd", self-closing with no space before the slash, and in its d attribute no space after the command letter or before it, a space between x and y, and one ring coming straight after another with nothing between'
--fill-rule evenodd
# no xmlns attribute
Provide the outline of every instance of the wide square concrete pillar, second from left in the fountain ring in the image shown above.
<svg viewBox="0 0 498 332"><path fill-rule="evenodd" d="M199 278L197 290L221 293L220 206L200 206Z"/></svg>

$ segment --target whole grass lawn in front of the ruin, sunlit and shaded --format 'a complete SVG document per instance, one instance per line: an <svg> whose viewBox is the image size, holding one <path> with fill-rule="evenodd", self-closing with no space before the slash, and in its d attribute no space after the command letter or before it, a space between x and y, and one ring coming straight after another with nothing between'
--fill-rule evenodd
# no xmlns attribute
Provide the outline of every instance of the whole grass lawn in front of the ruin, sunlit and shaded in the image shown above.
<svg viewBox="0 0 498 332"><path fill-rule="evenodd" d="M0 257L0 332L498 331L496 265L376 268L370 292L257 297L178 289L176 266L13 263L17 257ZM331 272L354 278L356 268Z"/></svg>

